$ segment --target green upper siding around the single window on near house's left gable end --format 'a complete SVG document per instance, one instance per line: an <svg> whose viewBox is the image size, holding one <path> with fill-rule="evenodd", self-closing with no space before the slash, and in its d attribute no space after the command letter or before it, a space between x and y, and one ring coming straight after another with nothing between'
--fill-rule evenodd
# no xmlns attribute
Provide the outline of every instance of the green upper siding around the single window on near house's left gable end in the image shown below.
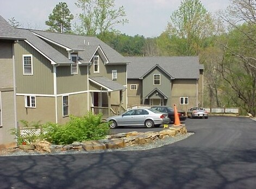
<svg viewBox="0 0 256 189"><path fill-rule="evenodd" d="M23 75L22 55L28 54L33 55L33 75ZM24 41L15 44L15 67L17 93L53 94L51 62Z"/></svg>

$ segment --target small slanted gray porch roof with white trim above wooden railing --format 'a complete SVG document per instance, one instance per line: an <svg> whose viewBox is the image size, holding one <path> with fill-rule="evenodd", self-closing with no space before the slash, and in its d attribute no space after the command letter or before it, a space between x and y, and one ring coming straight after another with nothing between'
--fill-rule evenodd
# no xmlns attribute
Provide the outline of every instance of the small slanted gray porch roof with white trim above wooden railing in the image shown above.
<svg viewBox="0 0 256 189"><path fill-rule="evenodd" d="M122 84L112 81L104 76L89 77L89 80L91 82L97 84L98 86L101 86L101 87L107 89L108 92L126 89L126 87L122 86Z"/></svg>

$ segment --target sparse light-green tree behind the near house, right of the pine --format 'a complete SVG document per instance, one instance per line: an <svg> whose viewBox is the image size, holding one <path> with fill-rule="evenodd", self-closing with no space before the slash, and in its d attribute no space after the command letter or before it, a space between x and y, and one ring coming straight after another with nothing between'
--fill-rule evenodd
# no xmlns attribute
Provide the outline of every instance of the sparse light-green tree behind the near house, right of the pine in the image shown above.
<svg viewBox="0 0 256 189"><path fill-rule="evenodd" d="M124 7L115 9L115 0L78 0L76 5L83 11L75 25L79 34L104 35L116 31L115 25L128 23Z"/></svg>

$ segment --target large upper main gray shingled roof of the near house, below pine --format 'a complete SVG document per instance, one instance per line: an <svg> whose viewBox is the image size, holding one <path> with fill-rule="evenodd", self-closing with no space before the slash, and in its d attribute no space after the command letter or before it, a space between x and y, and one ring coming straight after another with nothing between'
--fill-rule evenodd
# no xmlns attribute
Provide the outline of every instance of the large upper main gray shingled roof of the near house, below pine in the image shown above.
<svg viewBox="0 0 256 189"><path fill-rule="evenodd" d="M109 45L105 44L95 36L82 36L73 34L60 34L46 31L32 30L36 34L47 38L55 43L61 44L67 48L73 50L84 49L85 53L82 51L79 53L79 57L84 60L84 62L89 61L92 57L92 49L96 49L98 45L101 46L105 55L107 56L109 63L127 63L127 58L123 57L121 54L117 53ZM90 53L88 53L90 52Z"/></svg>

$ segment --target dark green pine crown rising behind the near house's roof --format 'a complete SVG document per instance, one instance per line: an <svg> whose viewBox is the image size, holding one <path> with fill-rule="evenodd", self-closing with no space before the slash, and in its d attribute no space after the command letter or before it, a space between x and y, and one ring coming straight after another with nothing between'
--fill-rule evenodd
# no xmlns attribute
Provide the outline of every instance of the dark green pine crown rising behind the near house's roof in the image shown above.
<svg viewBox="0 0 256 189"><path fill-rule="evenodd" d="M48 21L45 22L48 25L49 31L67 33L71 32L71 21L74 16L70 13L66 3L60 2L53 9L52 14L48 16Z"/></svg>

